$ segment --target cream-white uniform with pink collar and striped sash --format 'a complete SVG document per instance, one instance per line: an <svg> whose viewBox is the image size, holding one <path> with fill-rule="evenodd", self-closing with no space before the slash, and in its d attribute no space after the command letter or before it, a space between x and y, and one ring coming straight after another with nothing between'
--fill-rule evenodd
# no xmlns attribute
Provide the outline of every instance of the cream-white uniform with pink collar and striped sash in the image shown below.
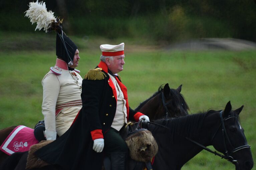
<svg viewBox="0 0 256 170"><path fill-rule="evenodd" d="M55 140L71 126L82 107L82 78L77 70L69 71L66 62L57 59L42 80L42 113L45 121L45 137Z"/></svg>

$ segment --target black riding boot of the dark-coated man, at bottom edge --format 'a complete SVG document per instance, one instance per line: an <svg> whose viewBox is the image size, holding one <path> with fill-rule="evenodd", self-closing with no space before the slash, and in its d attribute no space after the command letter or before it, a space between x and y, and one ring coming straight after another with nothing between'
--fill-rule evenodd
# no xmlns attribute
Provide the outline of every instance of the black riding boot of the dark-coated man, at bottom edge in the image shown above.
<svg viewBox="0 0 256 170"><path fill-rule="evenodd" d="M126 170L126 152L112 152L111 158L111 170Z"/></svg>

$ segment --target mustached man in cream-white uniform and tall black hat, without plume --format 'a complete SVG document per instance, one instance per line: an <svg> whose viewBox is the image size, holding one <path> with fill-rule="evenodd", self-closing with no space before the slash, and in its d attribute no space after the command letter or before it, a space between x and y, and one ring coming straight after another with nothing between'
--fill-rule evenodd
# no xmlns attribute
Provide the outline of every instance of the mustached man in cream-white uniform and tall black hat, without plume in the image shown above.
<svg viewBox="0 0 256 170"><path fill-rule="evenodd" d="M56 64L42 80L46 140L55 140L56 135L65 133L82 107L82 78L75 69L78 54L77 46L64 32L61 36L57 34Z"/></svg>

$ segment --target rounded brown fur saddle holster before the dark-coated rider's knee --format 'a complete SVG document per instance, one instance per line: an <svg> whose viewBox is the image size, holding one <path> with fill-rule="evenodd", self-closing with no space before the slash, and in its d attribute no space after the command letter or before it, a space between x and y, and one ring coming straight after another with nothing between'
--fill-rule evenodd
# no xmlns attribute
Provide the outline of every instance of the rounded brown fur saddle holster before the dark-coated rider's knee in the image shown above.
<svg viewBox="0 0 256 170"><path fill-rule="evenodd" d="M151 162L158 152L158 145L152 133L140 125L142 124L129 122L125 126L128 133L125 142L132 159L138 162Z"/></svg>

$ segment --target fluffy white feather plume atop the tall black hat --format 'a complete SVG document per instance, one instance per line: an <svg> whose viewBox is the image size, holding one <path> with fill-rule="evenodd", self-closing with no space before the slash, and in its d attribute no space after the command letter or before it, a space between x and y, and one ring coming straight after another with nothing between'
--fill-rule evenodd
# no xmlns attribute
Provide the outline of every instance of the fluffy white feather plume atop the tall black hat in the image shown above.
<svg viewBox="0 0 256 170"><path fill-rule="evenodd" d="M45 32L47 32L50 24L56 21L53 15L54 12L48 12L43 1L39 3L38 0L36 2L30 2L29 9L25 13L25 16L30 19L32 24L37 23L36 29L41 30L43 28Z"/></svg>

